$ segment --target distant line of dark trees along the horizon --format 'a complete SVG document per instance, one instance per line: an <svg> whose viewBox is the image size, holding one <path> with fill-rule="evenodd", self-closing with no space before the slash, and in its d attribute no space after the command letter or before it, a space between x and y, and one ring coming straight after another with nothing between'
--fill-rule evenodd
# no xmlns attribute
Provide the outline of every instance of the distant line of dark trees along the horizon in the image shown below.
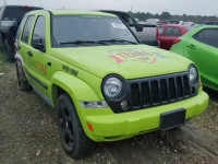
<svg viewBox="0 0 218 164"><path fill-rule="evenodd" d="M169 12L165 11L161 14L153 14L153 13L145 13L145 12L129 12L133 17L138 19L140 21L146 21L147 19L159 19L159 20L178 20L178 21L190 21L194 23L201 23L204 21L218 21L216 15L206 16L206 15L172 15Z"/></svg>

